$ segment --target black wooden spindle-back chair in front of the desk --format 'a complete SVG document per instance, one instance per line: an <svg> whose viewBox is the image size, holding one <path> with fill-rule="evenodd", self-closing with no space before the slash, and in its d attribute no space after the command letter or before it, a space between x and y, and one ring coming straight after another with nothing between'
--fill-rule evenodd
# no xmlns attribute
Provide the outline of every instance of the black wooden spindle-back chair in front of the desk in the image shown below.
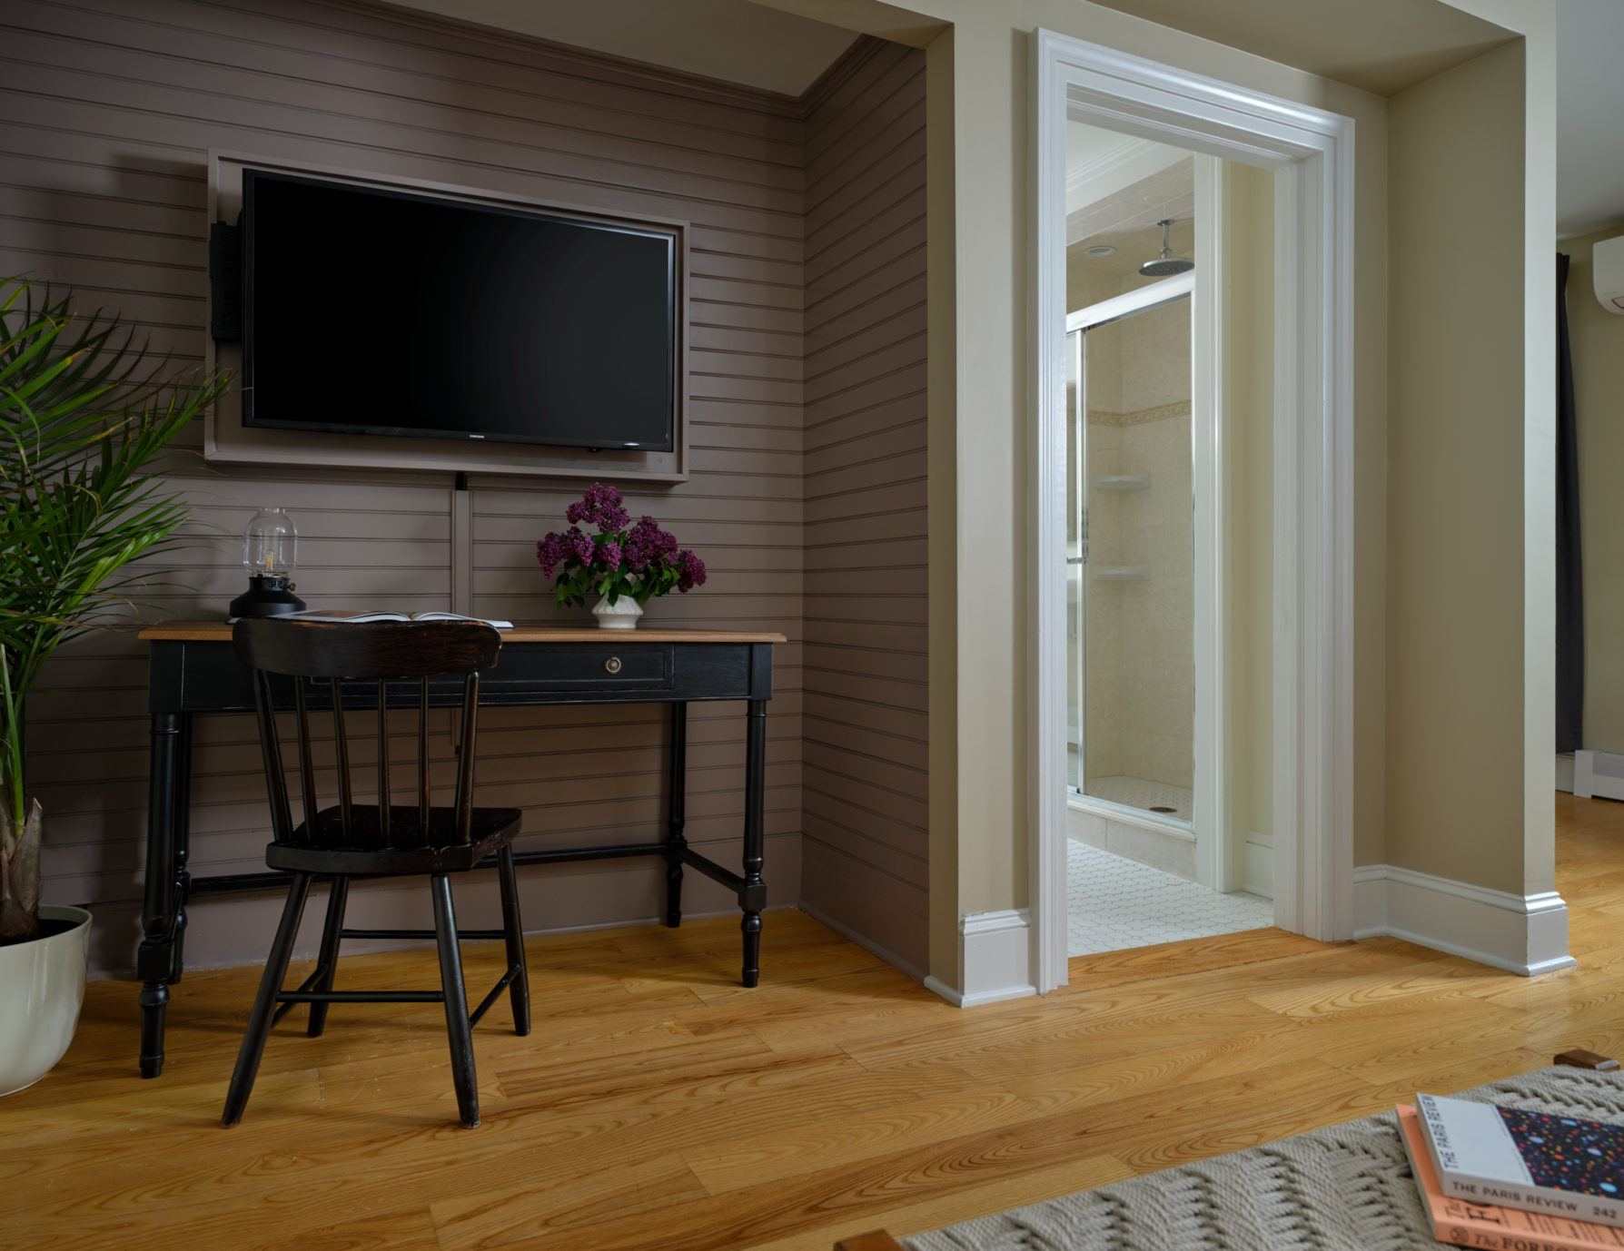
<svg viewBox="0 0 1624 1251"><path fill-rule="evenodd" d="M518 889L513 879L513 837L518 808L474 806L474 730L479 714L479 670L497 662L502 636L477 621L378 621L364 625L287 621L252 618L232 630L237 657L253 670L253 704L260 722L260 750L265 756L265 784L271 802L271 844L265 863L292 875L283 920L265 962L260 993L248 1016L248 1027L237 1053L237 1068L226 1094L221 1124L232 1126L253 1090L253 1077L265 1051L265 1038L281 1017L300 1003L310 1004L310 1037L322 1034L326 1008L333 1003L443 1003L445 1029L451 1047L451 1081L463 1124L479 1124L479 1087L474 1079L473 1025L495 1003L503 987L513 1006L513 1029L529 1034L529 983L525 974L525 938L518 917ZM292 821L289 785L283 767L283 745L276 730L271 688L292 678L299 730L299 790L304 821ZM450 808L435 808L429 798L429 680L461 677L461 748L456 766L456 795ZM338 805L318 808L312 758L309 698L325 680L333 706L333 743L338 766ZM377 686L378 709L378 802L356 803L351 785L349 740L343 706L367 688ZM396 704L417 686L417 803L390 803L388 703ZM404 686L404 690L403 690ZM458 930L451 909L451 873L477 866L497 855L502 886L500 930ZM434 897L434 930L346 930L344 905L351 878L425 873ZM317 969L297 990L283 990L299 920L310 894L312 878L328 878L326 925ZM344 938L434 938L440 949L438 991L335 991L333 974L338 944ZM507 972L484 1001L468 1012L463 987L460 938L502 938L507 943Z"/></svg>

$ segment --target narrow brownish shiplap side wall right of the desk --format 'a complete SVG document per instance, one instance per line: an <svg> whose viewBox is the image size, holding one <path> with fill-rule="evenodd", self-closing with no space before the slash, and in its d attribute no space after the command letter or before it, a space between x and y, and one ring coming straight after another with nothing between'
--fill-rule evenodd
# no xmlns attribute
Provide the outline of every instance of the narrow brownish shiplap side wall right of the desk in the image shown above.
<svg viewBox="0 0 1624 1251"><path fill-rule="evenodd" d="M802 901L927 967L924 54L807 117Z"/></svg>

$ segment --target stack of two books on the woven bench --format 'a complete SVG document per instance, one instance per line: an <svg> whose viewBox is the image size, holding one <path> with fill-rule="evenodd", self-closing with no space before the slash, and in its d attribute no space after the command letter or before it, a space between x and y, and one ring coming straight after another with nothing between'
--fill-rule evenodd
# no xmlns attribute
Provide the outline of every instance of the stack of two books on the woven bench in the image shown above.
<svg viewBox="0 0 1624 1251"><path fill-rule="evenodd" d="M1398 1128L1440 1243L1624 1251L1624 1126L1416 1095Z"/></svg>

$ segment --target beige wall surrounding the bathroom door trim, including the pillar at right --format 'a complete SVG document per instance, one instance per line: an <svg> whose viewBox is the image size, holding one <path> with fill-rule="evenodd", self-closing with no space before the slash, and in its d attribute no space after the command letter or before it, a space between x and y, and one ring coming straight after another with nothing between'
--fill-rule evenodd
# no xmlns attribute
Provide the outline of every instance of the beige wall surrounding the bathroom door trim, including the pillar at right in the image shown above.
<svg viewBox="0 0 1624 1251"><path fill-rule="evenodd" d="M814 0L767 2L794 11L822 8ZM944 618L950 615L957 631L957 660L948 665L945 657L935 657L939 667L932 668L932 719L940 729L940 737L934 737L934 761L955 767L950 806L935 803L937 797L947 798L948 789L945 767L937 771L932 849L950 847L958 855L952 881L932 878L955 891L952 897L932 891L932 952L944 978L953 972L948 956L957 949L961 915L1026 902L1030 355L1021 326L1031 185L1028 34L1038 26L1354 118L1354 862L1390 860L1504 889L1549 884L1549 764L1541 774L1535 763L1541 738L1549 758L1549 662L1543 659L1551 638L1549 514L1548 487L1540 485L1549 477L1549 326L1540 320L1535 284L1523 276L1548 273L1554 234L1546 230L1543 245L1535 237L1554 221L1551 6L1548 0L1452 2L1530 36L1527 58L1523 44L1515 42L1462 67L1460 80L1445 75L1411 88L1406 141L1424 148L1436 140L1439 161L1453 170L1453 182L1439 178L1426 159L1395 157L1389 169L1387 101L1231 47L1077 0L911 5L916 13L952 23L952 37L929 49L932 65L940 65L934 73L953 88L950 104L932 101L932 123L940 118L940 133L952 127L953 135L955 230L952 282L944 274L932 287L932 342L942 342L944 349L950 344L957 355L953 372L940 354L932 355L932 420L939 423L932 425L932 458L948 459L935 432L940 428L942 438L952 432L950 462L957 471L952 493L957 516L932 513L932 553L942 561L950 553L957 579L952 613L945 602L934 607ZM877 8L848 0L840 11L844 19L875 29L882 21L896 21L895 13L877 16ZM1403 55L1402 37L1395 34L1395 63ZM1444 144L1445 127L1436 125L1429 114L1449 112L1449 97L1470 94L1468 84L1483 78L1496 80L1494 91L1481 101L1486 112L1470 117L1455 112L1453 144ZM1525 144L1525 135L1536 141ZM945 161L942 166L945 172ZM1471 222L1465 235L1450 235L1462 221ZM1390 234L1395 242L1403 235L1403 255L1415 268L1389 264ZM1462 237L1483 242L1489 264L1475 263L1470 248L1457 245ZM1541 247L1546 260L1540 256ZM932 251L932 279L942 269L944 253L945 248ZM1434 305L1411 299L1418 286L1411 274L1432 273L1429 255L1455 256L1458 263L1432 287L1440 292L1439 302L1449 292L1449 310L1437 308L1436 316L1423 321L1413 310ZM1473 273L1462 277L1463 269ZM1403 297L1395 287L1392 302L1390 276L1403 284ZM1478 427L1476 440L1450 448L1452 472L1458 475L1462 462L1484 461L1502 513L1471 534L1462 534L1449 518L1440 518L1440 529L1466 545L1465 563L1481 574L1466 591L1481 602L1492 600L1497 612L1510 617L1509 634L1481 617L1470 621L1473 633L1457 630L1465 625L1460 612L1427 591L1418 555L1406 548L1415 542L1418 552L1439 555L1439 544L1411 526L1449 513L1445 506L1411 508L1419 487L1416 475L1445 467L1436 459L1439 448L1426 445L1431 425L1452 419L1432 414L1455 414L1463 407L1460 394L1475 396L1481 389L1468 373L1475 367L1468 367L1465 354L1450 355L1450 344L1465 337L1457 326L1475 325L1473 318L1458 316L1468 303L1463 289L1496 302L1475 310L1494 342L1492 365L1479 373L1496 376L1510 391L1496 391L1491 428ZM955 299L957 290L973 290L974 299ZM1395 320L1392 333L1390 307L1411 310ZM947 323L940 339L937 321ZM1400 333L1398 325L1406 331ZM1405 378L1393 378L1389 386L1389 350L1402 346L1415 350L1406 357ZM1479 342L1473 360L1488 350ZM1431 375L1416 368L1423 354L1434 357ZM1439 393L1432 378L1442 372L1437 368L1442 362L1450 362L1452 376L1463 380L1460 391ZM1406 467L1411 477L1392 516L1389 464L1398 466L1405 456L1398 446L1389 448L1390 433L1400 428L1397 419L1389 422L1390 401L1405 404L1406 449L1434 456L1431 469ZM1512 409L1520 409L1525 419L1514 419ZM1434 474L1434 498L1442 500L1437 480ZM1476 516L1476 501L1465 511ZM1486 552L1492 555L1484 557ZM1507 570L1514 571L1510 579ZM945 571L937 576L945 578ZM1403 597L1392 607L1390 576L1403 583ZM1450 581L1453 574L1444 578ZM1453 654L1444 654L1445 636L1453 641ZM1483 636L1486 643L1479 643ZM1475 659L1470 665L1458 664L1463 656ZM1423 709L1415 698L1421 686L1406 685L1400 673L1442 694L1460 686L1465 703ZM1440 673L1450 675L1442 686ZM1400 701L1395 707L1389 707L1392 698ZM1427 725L1444 737L1463 732L1470 740L1475 717L1484 712L1501 725L1499 733L1486 732L1494 740L1492 761L1473 759L1473 772L1450 776L1478 777L1483 771L1505 769L1512 780L1499 787L1505 811L1491 823L1492 834L1465 839L1457 831L1468 823L1447 810L1444 789L1426 795L1418 784L1416 771L1426 754L1416 727ZM1397 725L1405 729L1390 742L1389 729ZM1426 751L1436 750L1436 743L1427 738ZM1393 767L1402 771L1400 792L1389 795L1387 774ZM945 858L940 863L945 873Z"/></svg>

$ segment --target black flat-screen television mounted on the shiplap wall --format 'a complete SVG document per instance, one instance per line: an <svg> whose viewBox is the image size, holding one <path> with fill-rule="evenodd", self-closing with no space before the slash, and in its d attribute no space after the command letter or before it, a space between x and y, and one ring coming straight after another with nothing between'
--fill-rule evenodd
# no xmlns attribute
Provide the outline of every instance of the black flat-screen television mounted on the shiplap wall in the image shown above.
<svg viewBox="0 0 1624 1251"><path fill-rule="evenodd" d="M671 234L242 178L245 425L674 448Z"/></svg>

